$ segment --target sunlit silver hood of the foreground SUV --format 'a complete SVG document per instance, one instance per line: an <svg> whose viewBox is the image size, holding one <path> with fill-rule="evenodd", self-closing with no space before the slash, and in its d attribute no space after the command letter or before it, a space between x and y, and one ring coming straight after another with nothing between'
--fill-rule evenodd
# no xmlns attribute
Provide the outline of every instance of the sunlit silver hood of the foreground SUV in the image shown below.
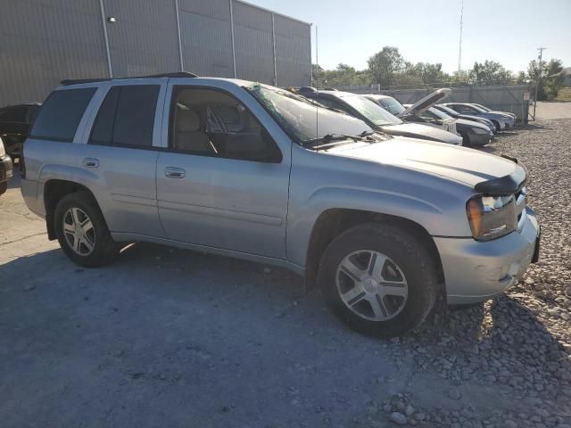
<svg viewBox="0 0 571 428"><path fill-rule="evenodd" d="M396 137L377 144L340 145L327 152L365 161L416 169L470 186L505 177L516 169L507 159L450 144Z"/></svg>

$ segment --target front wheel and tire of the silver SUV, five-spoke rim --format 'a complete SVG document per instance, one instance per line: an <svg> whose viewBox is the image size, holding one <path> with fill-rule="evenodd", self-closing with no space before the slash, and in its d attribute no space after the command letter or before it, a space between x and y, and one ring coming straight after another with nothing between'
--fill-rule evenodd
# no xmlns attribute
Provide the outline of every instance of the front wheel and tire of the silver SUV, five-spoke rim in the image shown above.
<svg viewBox="0 0 571 428"><path fill-rule="evenodd" d="M345 268L350 265L353 268ZM362 274L359 282L355 272ZM375 283L371 272L384 284L393 284ZM399 281L404 284L394 285ZM346 325L379 337L398 336L422 324L438 292L437 269L425 246L400 227L380 223L354 226L337 236L319 263L318 284L328 306Z"/></svg>

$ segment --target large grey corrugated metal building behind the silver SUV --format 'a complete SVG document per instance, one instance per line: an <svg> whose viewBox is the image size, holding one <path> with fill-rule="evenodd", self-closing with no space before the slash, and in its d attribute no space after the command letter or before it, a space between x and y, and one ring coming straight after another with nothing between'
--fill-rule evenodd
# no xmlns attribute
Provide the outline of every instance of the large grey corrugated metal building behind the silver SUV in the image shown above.
<svg viewBox="0 0 571 428"><path fill-rule="evenodd" d="M241 0L2 0L0 106L176 70L304 86L310 51L309 23Z"/></svg>

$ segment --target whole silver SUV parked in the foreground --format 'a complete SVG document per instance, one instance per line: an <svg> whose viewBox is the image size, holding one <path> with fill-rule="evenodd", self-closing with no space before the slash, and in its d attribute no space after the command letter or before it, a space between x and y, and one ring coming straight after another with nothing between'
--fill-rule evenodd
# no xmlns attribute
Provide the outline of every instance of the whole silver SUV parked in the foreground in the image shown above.
<svg viewBox="0 0 571 428"><path fill-rule="evenodd" d="M274 264L365 333L491 299L538 251L516 162L243 80L62 82L23 153L24 199L73 262L150 242Z"/></svg>

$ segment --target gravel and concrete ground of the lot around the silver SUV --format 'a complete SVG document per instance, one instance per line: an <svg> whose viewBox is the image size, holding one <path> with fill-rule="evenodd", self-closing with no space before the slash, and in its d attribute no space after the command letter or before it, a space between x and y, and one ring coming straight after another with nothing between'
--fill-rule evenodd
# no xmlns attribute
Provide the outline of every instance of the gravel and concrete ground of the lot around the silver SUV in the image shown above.
<svg viewBox="0 0 571 428"><path fill-rule="evenodd" d="M0 198L3 427L571 427L571 119L498 136L540 263L506 296L383 342L276 268L155 245L77 268ZM392 422L393 421L393 422Z"/></svg>

